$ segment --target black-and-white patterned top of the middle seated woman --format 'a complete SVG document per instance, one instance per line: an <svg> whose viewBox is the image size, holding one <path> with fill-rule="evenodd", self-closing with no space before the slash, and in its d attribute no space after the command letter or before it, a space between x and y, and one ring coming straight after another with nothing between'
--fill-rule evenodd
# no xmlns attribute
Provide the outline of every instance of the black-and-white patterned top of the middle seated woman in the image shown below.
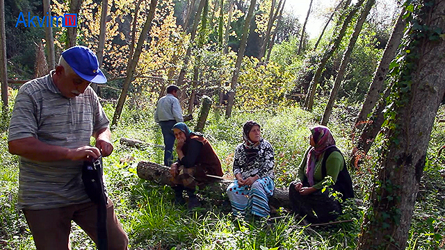
<svg viewBox="0 0 445 250"><path fill-rule="evenodd" d="M236 146L233 167L235 176L241 173L243 179L255 175L258 175L259 178L266 176L272 179L275 178L275 174L273 173L275 159L272 145L267 140L261 139L257 147L259 147L257 158L248 163L244 144L241 143Z"/></svg>

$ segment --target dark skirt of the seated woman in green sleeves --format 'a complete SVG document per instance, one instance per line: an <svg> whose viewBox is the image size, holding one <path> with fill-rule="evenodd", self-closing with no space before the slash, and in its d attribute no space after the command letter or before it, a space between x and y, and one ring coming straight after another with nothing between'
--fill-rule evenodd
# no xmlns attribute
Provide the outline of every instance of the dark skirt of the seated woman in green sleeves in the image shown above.
<svg viewBox="0 0 445 250"><path fill-rule="evenodd" d="M303 183L303 186L307 187ZM294 213L306 216L308 222L317 224L334 221L341 214L341 205L339 201L330 197L329 192L317 190L312 194L301 195L295 190L295 184L289 186L289 201ZM315 213L315 214L314 214Z"/></svg>

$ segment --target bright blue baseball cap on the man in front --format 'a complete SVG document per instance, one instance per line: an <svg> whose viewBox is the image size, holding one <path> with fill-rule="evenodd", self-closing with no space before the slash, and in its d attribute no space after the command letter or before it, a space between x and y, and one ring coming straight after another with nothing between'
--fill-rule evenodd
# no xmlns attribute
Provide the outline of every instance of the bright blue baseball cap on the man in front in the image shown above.
<svg viewBox="0 0 445 250"><path fill-rule="evenodd" d="M106 83L106 77L99 69L97 56L91 49L85 46L74 46L63 51L62 57L83 80L91 83Z"/></svg>

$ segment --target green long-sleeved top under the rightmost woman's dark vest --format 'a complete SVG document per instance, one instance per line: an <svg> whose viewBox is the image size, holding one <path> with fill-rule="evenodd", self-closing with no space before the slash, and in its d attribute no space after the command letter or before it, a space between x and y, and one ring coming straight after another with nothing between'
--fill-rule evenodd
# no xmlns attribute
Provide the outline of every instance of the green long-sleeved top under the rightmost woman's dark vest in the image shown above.
<svg viewBox="0 0 445 250"><path fill-rule="evenodd" d="M306 169L307 169L307 154L309 153L309 149L307 149L305 156L303 156L303 159L300 163L300 167L298 167L298 176L297 181L301 181L303 183L303 180L306 176ZM323 188L323 184L325 181L327 181L327 178L323 178L323 174L321 172L321 165L323 162L324 153L319 157L318 161L315 163L315 170L314 170L314 185L313 187L320 190ZM327 176L332 177L332 181L334 183L337 181L337 177L339 176L339 172L341 169L343 169L343 156L341 156L341 153L338 151L332 152L326 159L326 174Z"/></svg>

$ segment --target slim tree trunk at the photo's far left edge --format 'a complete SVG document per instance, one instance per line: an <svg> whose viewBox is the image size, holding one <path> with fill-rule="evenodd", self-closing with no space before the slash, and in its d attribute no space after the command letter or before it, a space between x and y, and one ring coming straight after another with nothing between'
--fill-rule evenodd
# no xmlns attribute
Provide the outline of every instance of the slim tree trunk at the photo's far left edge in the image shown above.
<svg viewBox="0 0 445 250"><path fill-rule="evenodd" d="M8 67L6 65L5 1L0 0L0 80L1 101L8 106Z"/></svg>

